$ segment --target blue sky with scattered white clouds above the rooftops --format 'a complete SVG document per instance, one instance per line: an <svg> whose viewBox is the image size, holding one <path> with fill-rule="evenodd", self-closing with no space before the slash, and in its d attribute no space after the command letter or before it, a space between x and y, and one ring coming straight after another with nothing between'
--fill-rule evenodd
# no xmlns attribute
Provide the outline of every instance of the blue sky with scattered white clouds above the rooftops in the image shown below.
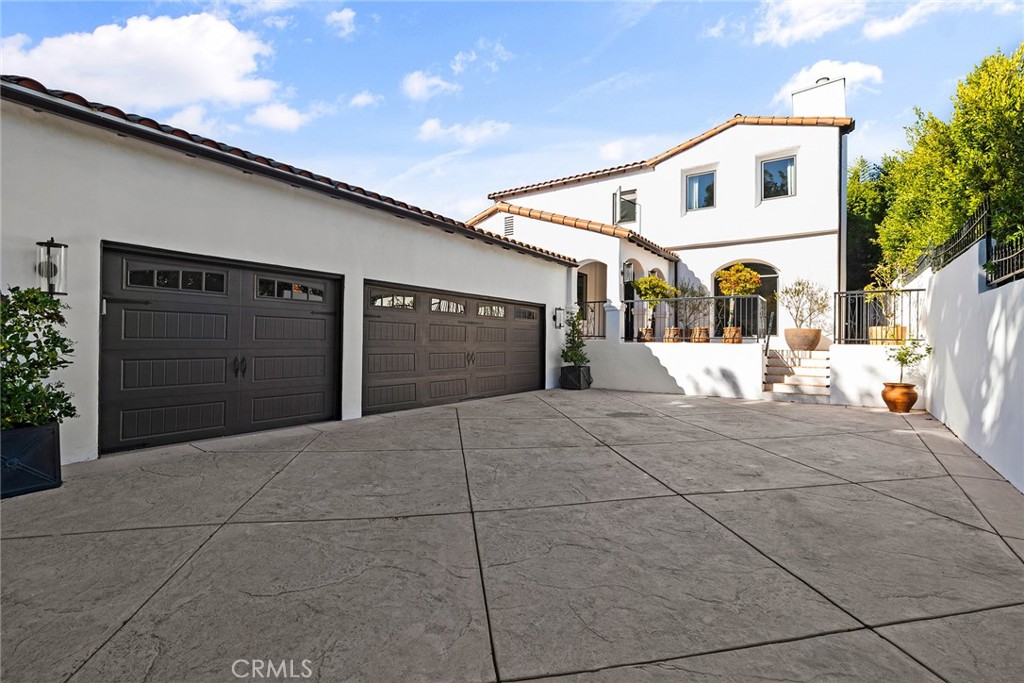
<svg viewBox="0 0 1024 683"><path fill-rule="evenodd" d="M851 159L1024 39L1024 3L18 2L5 74L465 219L847 79Z"/></svg>

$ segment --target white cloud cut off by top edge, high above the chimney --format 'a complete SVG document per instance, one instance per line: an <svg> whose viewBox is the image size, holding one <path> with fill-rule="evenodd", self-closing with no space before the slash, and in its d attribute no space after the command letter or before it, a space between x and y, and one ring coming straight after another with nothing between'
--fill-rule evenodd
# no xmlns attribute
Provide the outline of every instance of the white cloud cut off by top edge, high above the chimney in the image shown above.
<svg viewBox="0 0 1024 683"><path fill-rule="evenodd" d="M866 4L864 0L762 2L761 19L754 33L754 43L774 43L787 47L800 41L815 40L860 20Z"/></svg>

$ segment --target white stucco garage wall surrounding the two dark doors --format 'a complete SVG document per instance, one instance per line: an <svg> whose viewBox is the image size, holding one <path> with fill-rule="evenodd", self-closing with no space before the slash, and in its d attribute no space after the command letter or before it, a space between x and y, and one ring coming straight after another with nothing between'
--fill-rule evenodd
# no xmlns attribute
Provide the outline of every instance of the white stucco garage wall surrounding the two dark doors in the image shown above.
<svg viewBox="0 0 1024 683"><path fill-rule="evenodd" d="M341 410L360 415L365 280L565 306L566 266L446 234L210 161L3 102L0 283L37 285L36 242L69 248L62 379L81 417L61 427L66 462L96 457L100 241L343 274ZM562 334L548 324L547 386Z"/></svg>

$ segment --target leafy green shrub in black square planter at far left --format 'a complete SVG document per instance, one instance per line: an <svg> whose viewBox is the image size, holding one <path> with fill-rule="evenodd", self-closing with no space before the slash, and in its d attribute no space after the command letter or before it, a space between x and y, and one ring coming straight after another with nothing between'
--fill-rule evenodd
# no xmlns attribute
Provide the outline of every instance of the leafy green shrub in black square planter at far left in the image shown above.
<svg viewBox="0 0 1024 683"><path fill-rule="evenodd" d="M38 289L10 288L0 295L3 326L0 497L60 485L59 423L78 413L53 371L71 365L72 342L59 300Z"/></svg>

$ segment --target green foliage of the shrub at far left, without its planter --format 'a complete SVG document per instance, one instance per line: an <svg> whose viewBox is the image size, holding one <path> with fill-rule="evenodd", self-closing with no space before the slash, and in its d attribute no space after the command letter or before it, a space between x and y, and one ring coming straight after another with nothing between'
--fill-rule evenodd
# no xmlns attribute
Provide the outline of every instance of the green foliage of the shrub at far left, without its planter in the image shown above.
<svg viewBox="0 0 1024 683"><path fill-rule="evenodd" d="M0 296L3 326L2 428L37 427L78 415L62 382L47 382L71 365L74 344L61 333L66 304L38 289L10 288Z"/></svg>

